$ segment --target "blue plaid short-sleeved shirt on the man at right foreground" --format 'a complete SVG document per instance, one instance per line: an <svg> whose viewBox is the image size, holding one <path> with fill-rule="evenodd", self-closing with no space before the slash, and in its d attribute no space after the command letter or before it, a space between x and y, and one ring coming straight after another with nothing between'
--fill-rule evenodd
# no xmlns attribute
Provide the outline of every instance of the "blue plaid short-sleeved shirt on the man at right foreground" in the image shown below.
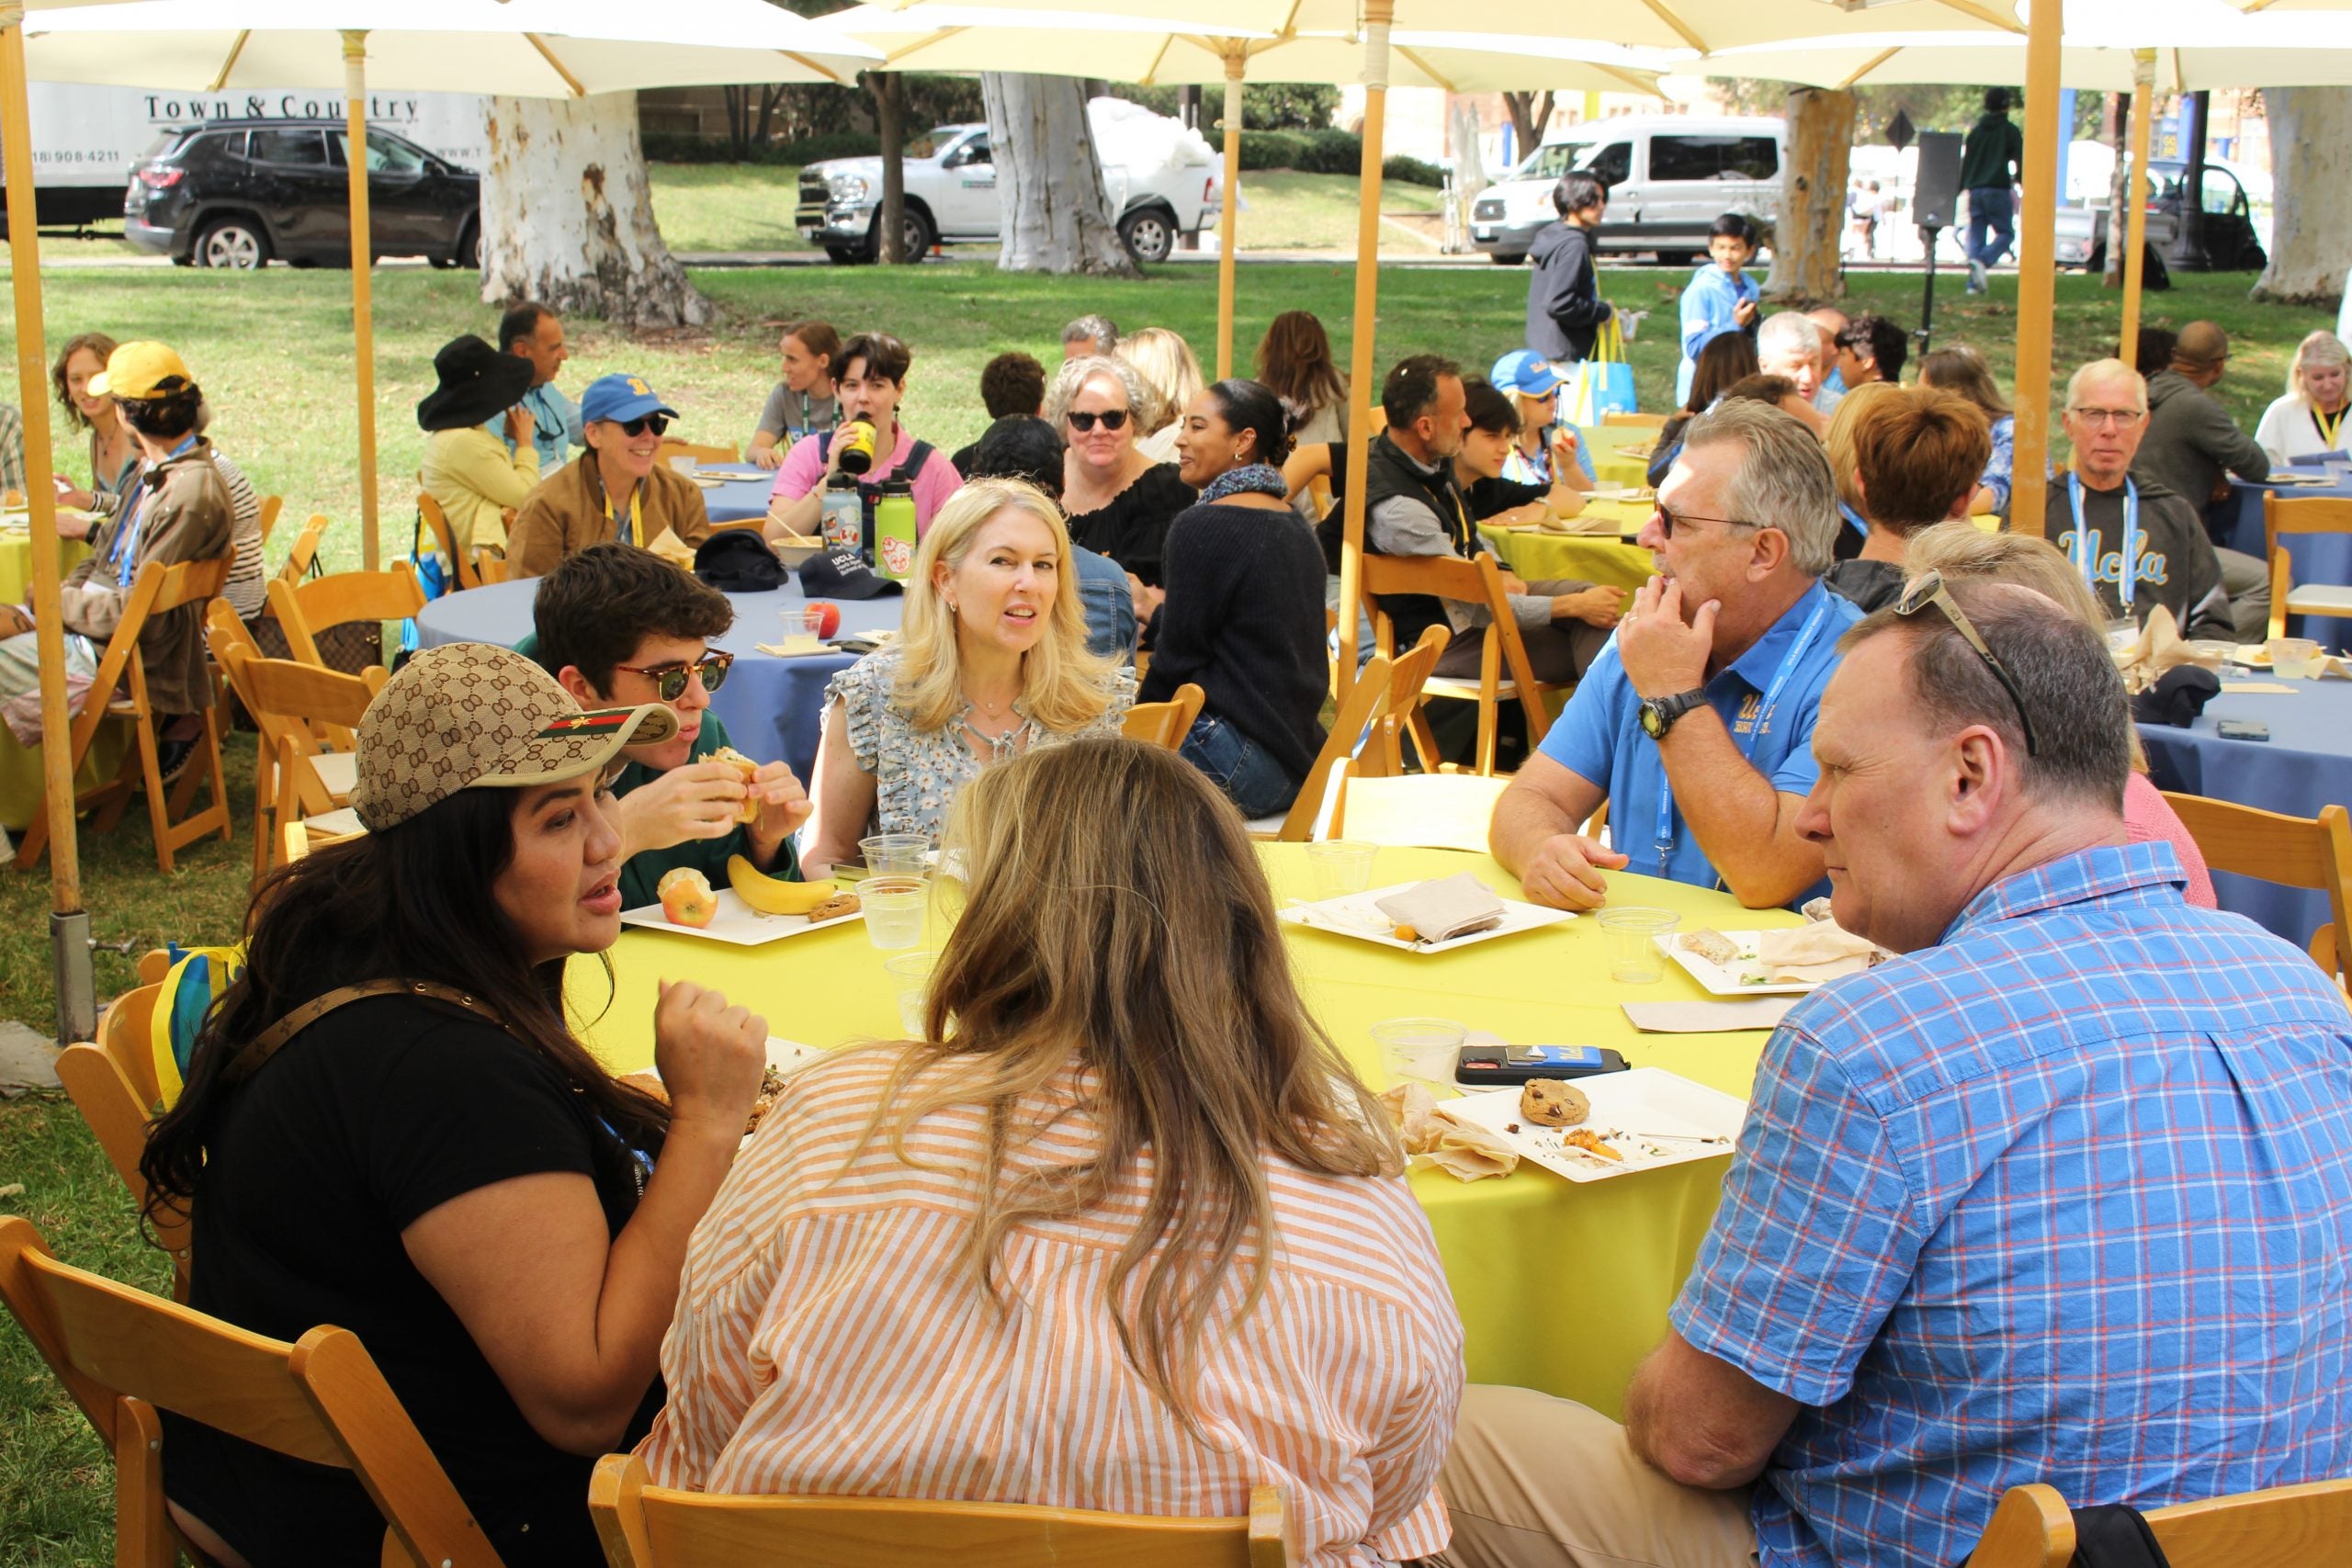
<svg viewBox="0 0 2352 1568"><path fill-rule="evenodd" d="M2166 844L1799 1001L1672 1324L1806 1408L1766 1568L1959 1563L2002 1490L2352 1474L2352 1011Z"/></svg>

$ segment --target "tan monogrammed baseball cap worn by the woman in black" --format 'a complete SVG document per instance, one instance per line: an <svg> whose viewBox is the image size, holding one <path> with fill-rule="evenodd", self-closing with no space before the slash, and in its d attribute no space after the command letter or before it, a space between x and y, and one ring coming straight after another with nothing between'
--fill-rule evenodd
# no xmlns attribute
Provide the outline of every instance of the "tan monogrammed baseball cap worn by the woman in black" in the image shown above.
<svg viewBox="0 0 2352 1568"><path fill-rule="evenodd" d="M350 806L383 832L459 790L522 790L677 733L668 703L581 710L555 677L494 642L426 649L360 715Z"/></svg>

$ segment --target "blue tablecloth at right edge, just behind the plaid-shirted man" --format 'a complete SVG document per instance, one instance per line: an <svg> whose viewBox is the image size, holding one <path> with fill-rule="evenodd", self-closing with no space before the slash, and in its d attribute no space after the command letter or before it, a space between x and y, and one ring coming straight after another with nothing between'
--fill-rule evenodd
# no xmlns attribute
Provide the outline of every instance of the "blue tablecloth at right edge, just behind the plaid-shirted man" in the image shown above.
<svg viewBox="0 0 2352 1568"><path fill-rule="evenodd" d="M2230 670L2230 679L2267 679ZM2140 724L2147 776L2159 790L2230 799L2241 806L2319 816L2321 806L2352 804L2352 682L2284 682L2293 696L2225 691L2190 729ZM2220 719L2270 724L2270 741L2223 741ZM2328 924L2326 893L2213 872L2220 907L2284 936L2296 947Z"/></svg>

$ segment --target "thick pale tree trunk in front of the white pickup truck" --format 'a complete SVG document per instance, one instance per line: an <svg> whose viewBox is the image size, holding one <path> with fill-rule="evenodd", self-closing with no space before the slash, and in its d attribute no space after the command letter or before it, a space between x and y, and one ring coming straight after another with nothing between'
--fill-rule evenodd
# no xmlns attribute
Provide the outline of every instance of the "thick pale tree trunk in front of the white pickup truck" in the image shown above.
<svg viewBox="0 0 2352 1568"><path fill-rule="evenodd" d="M1103 190L1087 89L1065 75L981 75L1004 205L1007 273L1138 277ZM1228 132L1230 134L1230 132ZM1232 200L1230 195L1225 200Z"/></svg>

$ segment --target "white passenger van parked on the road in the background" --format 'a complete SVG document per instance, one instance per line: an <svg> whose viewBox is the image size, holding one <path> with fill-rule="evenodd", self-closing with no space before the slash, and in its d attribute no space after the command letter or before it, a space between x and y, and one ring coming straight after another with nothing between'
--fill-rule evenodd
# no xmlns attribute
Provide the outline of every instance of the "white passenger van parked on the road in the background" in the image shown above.
<svg viewBox="0 0 2352 1568"><path fill-rule="evenodd" d="M1557 219L1552 186L1569 169L1609 186L1609 216L1595 235L1604 256L1656 252L1689 266L1708 254L1708 223L1745 212L1771 223L1780 212L1780 120L1623 115L1588 120L1529 153L1517 169L1470 202L1470 242L1503 266L1526 261L1536 233Z"/></svg>

